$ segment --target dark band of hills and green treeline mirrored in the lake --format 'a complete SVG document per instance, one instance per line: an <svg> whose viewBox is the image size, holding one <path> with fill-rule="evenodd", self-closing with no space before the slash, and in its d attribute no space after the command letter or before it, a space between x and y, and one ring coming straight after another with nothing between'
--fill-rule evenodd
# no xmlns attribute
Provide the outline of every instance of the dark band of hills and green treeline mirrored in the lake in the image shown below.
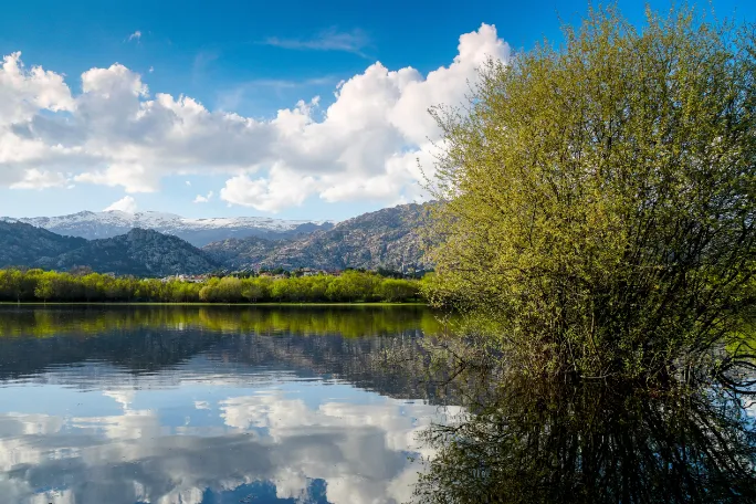
<svg viewBox="0 0 756 504"><path fill-rule="evenodd" d="M344 379L395 398L435 400L422 376L390 370L377 359L397 345L410 359L420 358L416 338L441 327L418 307L6 308L0 314L6 329L0 380L39 380L49 368L80 387L124 380L120 371L155 374L150 380L169 385L192 375L248 380L261 370L285 370L300 378ZM92 363L113 367L95 372Z"/></svg>

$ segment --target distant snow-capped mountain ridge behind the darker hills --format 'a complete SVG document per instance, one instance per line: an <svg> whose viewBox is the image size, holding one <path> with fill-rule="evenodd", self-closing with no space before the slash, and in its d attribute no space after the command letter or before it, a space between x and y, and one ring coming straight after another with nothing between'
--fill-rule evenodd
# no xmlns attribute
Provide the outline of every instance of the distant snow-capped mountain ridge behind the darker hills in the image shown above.
<svg viewBox="0 0 756 504"><path fill-rule="evenodd" d="M125 234L134 228L151 229L179 237L195 246L229 238L261 237L267 239L292 238L316 230L327 230L329 221L282 220L269 217L223 217L188 219L174 213L138 212L118 210L105 212L78 212L61 217L10 218L6 222L23 222L57 234L81 237L87 240Z"/></svg>

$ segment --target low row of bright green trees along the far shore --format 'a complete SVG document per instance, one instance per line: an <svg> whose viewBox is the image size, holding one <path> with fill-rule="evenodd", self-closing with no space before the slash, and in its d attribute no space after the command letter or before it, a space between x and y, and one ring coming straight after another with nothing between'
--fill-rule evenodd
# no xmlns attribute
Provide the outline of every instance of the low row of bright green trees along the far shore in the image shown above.
<svg viewBox="0 0 756 504"><path fill-rule="evenodd" d="M420 282L347 271L339 276L180 280L0 270L0 302L403 303L421 301Z"/></svg>

